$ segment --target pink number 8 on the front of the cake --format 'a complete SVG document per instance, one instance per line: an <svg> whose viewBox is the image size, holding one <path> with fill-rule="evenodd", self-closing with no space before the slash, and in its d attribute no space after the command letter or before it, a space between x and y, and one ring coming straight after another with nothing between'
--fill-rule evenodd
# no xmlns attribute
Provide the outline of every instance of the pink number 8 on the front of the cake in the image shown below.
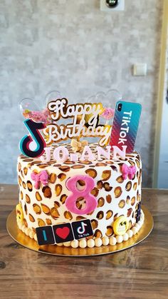
<svg viewBox="0 0 168 299"><path fill-rule="evenodd" d="M76 183L80 180L85 181L84 190L78 190L76 186ZM92 191L95 187L95 181L93 180L93 178L91 178L90 176L73 176L73 178L69 178L66 182L66 187L68 188L68 190L72 191L70 196L68 196L65 201L65 206L66 208L68 208L68 211L78 215L83 215L91 213L95 210L98 204L97 199L90 193L90 191ZM82 210L77 208L77 206L75 205L79 197L85 198L85 208L83 208Z"/></svg>

